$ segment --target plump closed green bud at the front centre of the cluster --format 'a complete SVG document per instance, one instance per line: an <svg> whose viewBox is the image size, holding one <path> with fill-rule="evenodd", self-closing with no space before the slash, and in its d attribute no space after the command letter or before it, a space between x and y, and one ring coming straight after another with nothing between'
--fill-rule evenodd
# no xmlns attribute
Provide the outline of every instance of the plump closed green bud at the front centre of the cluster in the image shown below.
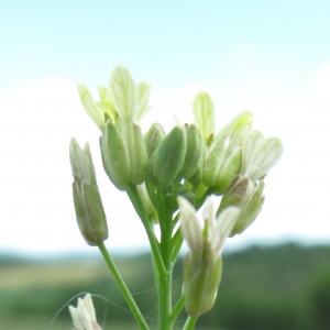
<svg viewBox="0 0 330 330"><path fill-rule="evenodd" d="M175 127L160 145L154 161L153 174L168 184L179 174L186 155L187 136L185 129Z"/></svg>

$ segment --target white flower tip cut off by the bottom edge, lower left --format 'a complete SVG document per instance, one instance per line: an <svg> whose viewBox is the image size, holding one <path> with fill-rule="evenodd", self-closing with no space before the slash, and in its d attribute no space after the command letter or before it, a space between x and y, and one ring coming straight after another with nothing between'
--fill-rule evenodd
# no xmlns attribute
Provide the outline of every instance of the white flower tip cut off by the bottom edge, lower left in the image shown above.
<svg viewBox="0 0 330 330"><path fill-rule="evenodd" d="M89 294L84 299L78 298L77 308L69 306L74 320L74 330L102 330L97 323L92 300Z"/></svg>

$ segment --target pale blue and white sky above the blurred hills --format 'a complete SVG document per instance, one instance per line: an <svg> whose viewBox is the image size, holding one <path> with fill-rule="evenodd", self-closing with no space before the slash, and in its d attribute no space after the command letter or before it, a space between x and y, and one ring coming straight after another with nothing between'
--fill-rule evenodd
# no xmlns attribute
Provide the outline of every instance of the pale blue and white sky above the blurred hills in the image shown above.
<svg viewBox="0 0 330 330"><path fill-rule="evenodd" d="M103 173L99 130L76 86L97 98L112 69L152 82L144 132L193 122L200 90L217 130L243 110L278 136L284 155L266 177L255 223L228 240L330 242L329 1L7 1L0 4L0 253L90 251L72 200L68 144L90 143L109 224L107 245L147 246L124 193Z"/></svg>

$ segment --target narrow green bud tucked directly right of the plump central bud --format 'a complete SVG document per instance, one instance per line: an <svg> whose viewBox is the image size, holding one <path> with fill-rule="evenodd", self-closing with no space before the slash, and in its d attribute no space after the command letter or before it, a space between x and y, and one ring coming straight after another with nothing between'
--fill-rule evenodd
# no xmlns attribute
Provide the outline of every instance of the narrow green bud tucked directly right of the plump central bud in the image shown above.
<svg viewBox="0 0 330 330"><path fill-rule="evenodd" d="M199 129L195 124L186 127L187 150L180 175L190 178L197 170L204 156L204 142Z"/></svg>

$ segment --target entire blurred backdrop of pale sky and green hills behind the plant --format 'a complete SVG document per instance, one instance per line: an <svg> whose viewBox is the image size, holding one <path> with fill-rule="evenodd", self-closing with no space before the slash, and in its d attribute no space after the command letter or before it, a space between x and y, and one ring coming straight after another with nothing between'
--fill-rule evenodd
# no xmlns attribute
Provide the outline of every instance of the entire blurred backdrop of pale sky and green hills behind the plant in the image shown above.
<svg viewBox="0 0 330 330"><path fill-rule="evenodd" d="M174 116L191 122L193 99L205 90L217 130L249 109L254 129L284 143L265 179L263 210L228 240L217 306L197 328L330 329L329 14L321 0L1 3L1 328L72 329L66 302L90 292L100 296L105 329L136 329L76 226L72 136L90 143L107 246L156 324L146 235L125 194L103 173L100 133L76 90L84 84L97 99L97 87L108 86L122 64L136 82L152 82L144 132L156 121L169 131ZM182 260L174 286L178 295Z"/></svg>

